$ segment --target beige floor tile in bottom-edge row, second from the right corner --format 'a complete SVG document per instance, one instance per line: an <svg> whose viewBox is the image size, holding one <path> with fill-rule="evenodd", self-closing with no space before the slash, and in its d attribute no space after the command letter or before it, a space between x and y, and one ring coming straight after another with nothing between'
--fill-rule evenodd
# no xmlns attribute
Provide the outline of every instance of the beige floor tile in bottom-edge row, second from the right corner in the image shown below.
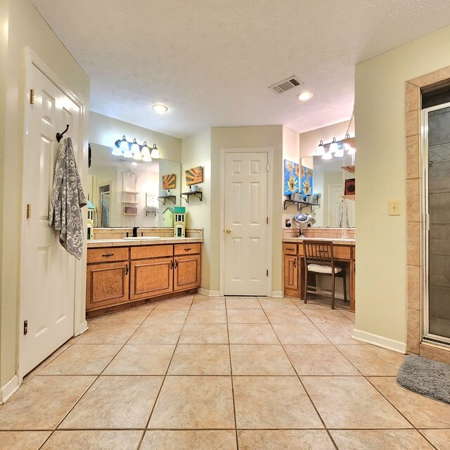
<svg viewBox="0 0 450 450"><path fill-rule="evenodd" d="M432 450L416 430L330 431L339 450Z"/></svg>

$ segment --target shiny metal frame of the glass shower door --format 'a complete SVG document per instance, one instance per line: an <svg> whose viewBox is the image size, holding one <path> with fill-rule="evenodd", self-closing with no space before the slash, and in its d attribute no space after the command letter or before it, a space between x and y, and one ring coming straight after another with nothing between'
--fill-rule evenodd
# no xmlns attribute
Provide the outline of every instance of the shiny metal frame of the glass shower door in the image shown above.
<svg viewBox="0 0 450 450"><path fill-rule="evenodd" d="M429 154L428 154L428 114L432 111L450 108L450 102L441 103L439 105L430 106L421 111L420 115L420 166L422 172L423 183L420 189L420 196L422 198L421 214L423 217L422 227L422 298L423 298L423 320L422 320L422 340L437 345L450 346L450 338L445 336L435 335L430 333L430 285L429 285L429 269L430 269L430 213L429 213L429 186L428 186L428 172L429 172Z"/></svg>

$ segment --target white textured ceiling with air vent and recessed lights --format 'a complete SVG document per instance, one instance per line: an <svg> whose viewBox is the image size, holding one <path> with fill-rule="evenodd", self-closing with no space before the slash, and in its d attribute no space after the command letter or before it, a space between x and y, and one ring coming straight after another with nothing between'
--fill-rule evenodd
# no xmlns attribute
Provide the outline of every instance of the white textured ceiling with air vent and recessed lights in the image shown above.
<svg viewBox="0 0 450 450"><path fill-rule="evenodd" d="M450 23L449 0L32 0L91 77L91 110L185 137L349 119L354 65ZM267 89L297 75L303 86ZM302 90L314 98L300 103ZM169 105L169 114L150 105Z"/></svg>

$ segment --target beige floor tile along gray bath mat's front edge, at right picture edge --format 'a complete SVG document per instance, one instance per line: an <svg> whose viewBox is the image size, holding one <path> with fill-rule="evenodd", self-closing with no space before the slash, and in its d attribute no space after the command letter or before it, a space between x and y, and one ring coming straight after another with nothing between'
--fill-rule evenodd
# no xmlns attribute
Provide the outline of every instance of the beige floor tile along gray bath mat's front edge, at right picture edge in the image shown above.
<svg viewBox="0 0 450 450"><path fill-rule="evenodd" d="M395 377L368 380L416 427L450 428L450 405L397 385Z"/></svg>

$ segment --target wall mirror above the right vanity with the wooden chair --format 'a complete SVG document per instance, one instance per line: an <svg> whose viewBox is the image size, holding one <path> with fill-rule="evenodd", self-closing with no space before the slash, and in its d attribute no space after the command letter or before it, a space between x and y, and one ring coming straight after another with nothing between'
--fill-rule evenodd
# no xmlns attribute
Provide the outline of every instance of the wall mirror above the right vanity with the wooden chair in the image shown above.
<svg viewBox="0 0 450 450"><path fill-rule="evenodd" d="M344 182L342 180L343 158L333 157L323 160L321 156L302 158L302 166L313 169L312 192L320 194L319 208L314 206L314 226L342 227L342 195ZM347 227L355 226L354 201L347 200Z"/></svg>

